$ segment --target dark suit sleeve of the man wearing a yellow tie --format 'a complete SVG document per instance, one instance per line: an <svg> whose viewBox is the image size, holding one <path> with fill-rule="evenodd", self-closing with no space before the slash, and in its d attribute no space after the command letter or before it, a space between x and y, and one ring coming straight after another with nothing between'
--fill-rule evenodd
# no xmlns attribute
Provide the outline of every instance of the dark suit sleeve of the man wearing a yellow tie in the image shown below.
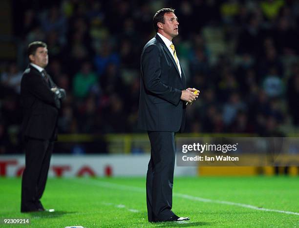
<svg viewBox="0 0 299 228"><path fill-rule="evenodd" d="M160 79L162 55L155 45L146 48L142 57L144 84L147 90L174 105L178 105L182 91L173 88Z"/></svg>

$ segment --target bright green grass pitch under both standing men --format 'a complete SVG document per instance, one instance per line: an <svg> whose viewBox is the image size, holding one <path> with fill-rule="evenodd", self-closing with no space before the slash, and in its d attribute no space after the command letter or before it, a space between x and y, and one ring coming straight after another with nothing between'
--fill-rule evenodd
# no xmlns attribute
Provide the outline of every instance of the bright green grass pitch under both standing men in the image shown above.
<svg viewBox="0 0 299 228"><path fill-rule="evenodd" d="M0 227L299 226L298 177L180 177L173 193L172 210L190 221L148 223L145 178L49 178L42 202L55 212L20 213L21 179L0 178L1 221L31 219Z"/></svg>

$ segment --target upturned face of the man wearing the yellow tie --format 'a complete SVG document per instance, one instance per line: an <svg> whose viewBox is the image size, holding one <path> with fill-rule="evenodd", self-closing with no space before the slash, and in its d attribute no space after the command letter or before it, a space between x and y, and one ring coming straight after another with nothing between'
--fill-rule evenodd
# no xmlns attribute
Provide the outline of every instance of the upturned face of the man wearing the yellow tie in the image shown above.
<svg viewBox="0 0 299 228"><path fill-rule="evenodd" d="M177 21L177 17L174 13L171 12L164 14L164 24L161 23L161 27L166 38L172 40L172 38L178 35L178 25L179 22Z"/></svg>

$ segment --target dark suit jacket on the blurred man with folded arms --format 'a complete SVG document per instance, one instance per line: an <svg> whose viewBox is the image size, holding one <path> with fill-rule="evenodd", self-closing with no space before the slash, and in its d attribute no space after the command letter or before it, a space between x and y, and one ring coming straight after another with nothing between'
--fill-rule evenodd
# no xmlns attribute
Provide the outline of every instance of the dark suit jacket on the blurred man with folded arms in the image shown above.
<svg viewBox="0 0 299 228"><path fill-rule="evenodd" d="M60 100L51 91L57 87L48 76L49 83L32 65L21 79L21 104L23 107L22 136L41 140L56 140Z"/></svg>

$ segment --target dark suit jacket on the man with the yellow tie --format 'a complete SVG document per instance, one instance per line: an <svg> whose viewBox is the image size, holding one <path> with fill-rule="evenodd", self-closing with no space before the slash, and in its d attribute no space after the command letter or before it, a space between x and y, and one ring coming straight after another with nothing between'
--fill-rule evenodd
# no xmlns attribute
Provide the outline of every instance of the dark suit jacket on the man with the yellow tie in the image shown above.
<svg viewBox="0 0 299 228"><path fill-rule="evenodd" d="M141 54L138 128L177 132L184 129L186 105L180 100L186 78L165 43L156 35Z"/></svg>

